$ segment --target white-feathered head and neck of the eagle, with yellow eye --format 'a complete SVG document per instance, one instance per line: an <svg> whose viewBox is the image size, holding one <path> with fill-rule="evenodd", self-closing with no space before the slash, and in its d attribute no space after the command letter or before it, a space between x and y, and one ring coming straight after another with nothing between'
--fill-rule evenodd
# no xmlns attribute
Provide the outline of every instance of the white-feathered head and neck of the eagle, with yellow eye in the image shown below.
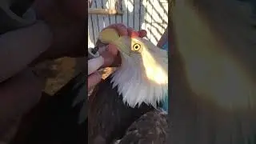
<svg viewBox="0 0 256 144"><path fill-rule="evenodd" d="M122 36L110 42L120 51L122 65L112 75L113 87L129 106L157 106L168 91L166 50L144 38Z"/></svg>

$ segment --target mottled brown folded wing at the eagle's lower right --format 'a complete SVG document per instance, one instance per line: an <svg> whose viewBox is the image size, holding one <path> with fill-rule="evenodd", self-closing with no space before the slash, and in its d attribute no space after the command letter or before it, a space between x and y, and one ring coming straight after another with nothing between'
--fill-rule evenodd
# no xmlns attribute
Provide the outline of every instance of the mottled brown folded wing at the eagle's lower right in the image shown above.
<svg viewBox="0 0 256 144"><path fill-rule="evenodd" d="M152 110L138 118L126 130L126 135L118 144L139 143L139 144L167 144L169 134L169 122L167 114L161 110Z"/></svg>

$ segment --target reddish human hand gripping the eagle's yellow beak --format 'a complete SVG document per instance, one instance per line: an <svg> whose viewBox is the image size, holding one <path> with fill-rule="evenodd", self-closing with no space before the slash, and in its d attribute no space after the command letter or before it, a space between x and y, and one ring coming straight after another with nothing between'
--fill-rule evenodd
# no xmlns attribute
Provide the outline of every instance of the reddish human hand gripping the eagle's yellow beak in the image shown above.
<svg viewBox="0 0 256 144"><path fill-rule="evenodd" d="M146 37L146 30L139 30L136 31L130 27L126 27L121 23L114 24L107 26L105 29L112 28L114 30L117 30L118 34L120 36L138 36L141 38ZM120 66L121 65L121 57L118 52L118 49L116 46L109 44L107 46L104 46L102 42L97 42L97 46L99 46L99 53L104 58L104 64L102 67L114 67L114 66ZM105 47L105 48L104 48Z"/></svg>

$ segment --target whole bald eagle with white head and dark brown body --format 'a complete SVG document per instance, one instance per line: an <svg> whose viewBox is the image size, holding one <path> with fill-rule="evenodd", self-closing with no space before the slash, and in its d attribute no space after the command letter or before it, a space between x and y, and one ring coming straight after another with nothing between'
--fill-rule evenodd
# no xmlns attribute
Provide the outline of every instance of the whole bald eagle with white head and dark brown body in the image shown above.
<svg viewBox="0 0 256 144"><path fill-rule="evenodd" d="M114 30L110 32L114 33ZM102 33L106 31L103 30ZM103 35L99 40L118 47L122 65L100 82L89 98L89 143L126 143L131 139L138 143L137 136L140 134L136 134L137 132L144 133L145 136L150 134L151 140L154 139L152 142L163 143L167 123L158 106L166 98L168 91L166 50L159 49L144 38L110 38ZM145 133L143 129L149 130L149 127L142 126L143 122L151 122L152 126L157 126L157 132L154 135L150 131ZM142 127L134 130L134 126L138 124ZM154 127L151 128L154 131Z"/></svg>

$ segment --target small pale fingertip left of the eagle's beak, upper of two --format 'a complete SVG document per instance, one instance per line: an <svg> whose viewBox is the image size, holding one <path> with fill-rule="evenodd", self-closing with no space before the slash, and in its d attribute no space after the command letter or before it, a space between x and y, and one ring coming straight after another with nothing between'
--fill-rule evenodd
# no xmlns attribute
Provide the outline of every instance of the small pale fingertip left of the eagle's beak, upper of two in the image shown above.
<svg viewBox="0 0 256 144"><path fill-rule="evenodd" d="M93 58L88 61L88 75L92 74L94 71L98 70L104 64L104 59L102 56L98 58Z"/></svg>

